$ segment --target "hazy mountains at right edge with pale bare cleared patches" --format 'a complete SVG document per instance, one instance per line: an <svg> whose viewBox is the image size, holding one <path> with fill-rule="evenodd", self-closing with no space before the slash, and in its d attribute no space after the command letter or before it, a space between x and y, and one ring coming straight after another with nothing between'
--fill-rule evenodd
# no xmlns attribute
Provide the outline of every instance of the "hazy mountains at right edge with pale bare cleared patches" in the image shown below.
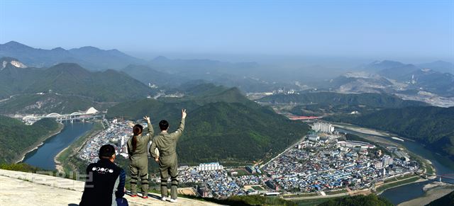
<svg viewBox="0 0 454 206"><path fill-rule="evenodd" d="M426 91L454 97L454 73L441 72L450 71L450 67L454 69L453 64L441 61L416 66L384 60L358 67L358 72L338 76L326 87L341 93Z"/></svg>

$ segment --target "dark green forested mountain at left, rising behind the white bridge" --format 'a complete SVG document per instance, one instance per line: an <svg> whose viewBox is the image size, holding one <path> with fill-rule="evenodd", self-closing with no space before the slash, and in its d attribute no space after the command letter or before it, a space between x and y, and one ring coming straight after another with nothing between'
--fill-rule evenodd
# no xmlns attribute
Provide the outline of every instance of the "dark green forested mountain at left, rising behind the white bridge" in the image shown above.
<svg viewBox="0 0 454 206"><path fill-rule="evenodd" d="M51 92L86 96L94 101L142 98L152 89L114 70L88 71L78 64L57 64L48 69L6 67L0 71L0 97L18 93Z"/></svg>

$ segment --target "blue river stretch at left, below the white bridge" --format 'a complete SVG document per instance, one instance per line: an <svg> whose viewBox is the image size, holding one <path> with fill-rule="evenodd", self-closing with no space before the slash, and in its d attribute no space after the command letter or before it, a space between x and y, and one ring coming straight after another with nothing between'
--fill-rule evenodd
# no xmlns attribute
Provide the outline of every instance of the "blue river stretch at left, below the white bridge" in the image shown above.
<svg viewBox="0 0 454 206"><path fill-rule="evenodd" d="M38 149L26 154L23 162L39 168L55 170L55 156L93 127L93 123L90 122L67 122L64 125L62 132L46 139Z"/></svg>

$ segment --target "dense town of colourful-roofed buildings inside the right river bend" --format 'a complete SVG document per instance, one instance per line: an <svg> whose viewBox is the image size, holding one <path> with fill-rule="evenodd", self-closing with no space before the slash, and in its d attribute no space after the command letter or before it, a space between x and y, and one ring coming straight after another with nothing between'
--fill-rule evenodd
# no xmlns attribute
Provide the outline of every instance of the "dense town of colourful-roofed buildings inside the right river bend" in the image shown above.
<svg viewBox="0 0 454 206"><path fill-rule="evenodd" d="M304 140L262 170L288 192L317 192L349 186L370 188L372 184L418 169L415 161L382 155L375 145L357 141ZM394 155L393 155L394 156Z"/></svg>

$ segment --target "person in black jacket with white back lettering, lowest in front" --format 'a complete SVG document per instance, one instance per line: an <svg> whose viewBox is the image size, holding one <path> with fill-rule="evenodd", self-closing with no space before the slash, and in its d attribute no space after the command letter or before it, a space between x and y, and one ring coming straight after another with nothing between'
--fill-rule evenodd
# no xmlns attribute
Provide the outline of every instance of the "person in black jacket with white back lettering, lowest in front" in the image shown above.
<svg viewBox="0 0 454 206"><path fill-rule="evenodd" d="M114 164L114 146L103 145L99 149L99 161L87 166L87 181L79 206L128 205L125 195L125 171Z"/></svg>

